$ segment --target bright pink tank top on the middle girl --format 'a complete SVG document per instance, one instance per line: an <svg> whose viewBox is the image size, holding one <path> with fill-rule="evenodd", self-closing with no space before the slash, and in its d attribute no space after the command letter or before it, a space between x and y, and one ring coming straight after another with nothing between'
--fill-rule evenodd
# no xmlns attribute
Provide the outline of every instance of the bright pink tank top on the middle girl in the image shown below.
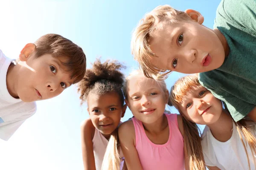
<svg viewBox="0 0 256 170"><path fill-rule="evenodd" d="M151 142L141 121L132 118L136 135L136 149L143 170L184 170L184 140L177 114L165 114L169 125L169 139L165 144Z"/></svg>

